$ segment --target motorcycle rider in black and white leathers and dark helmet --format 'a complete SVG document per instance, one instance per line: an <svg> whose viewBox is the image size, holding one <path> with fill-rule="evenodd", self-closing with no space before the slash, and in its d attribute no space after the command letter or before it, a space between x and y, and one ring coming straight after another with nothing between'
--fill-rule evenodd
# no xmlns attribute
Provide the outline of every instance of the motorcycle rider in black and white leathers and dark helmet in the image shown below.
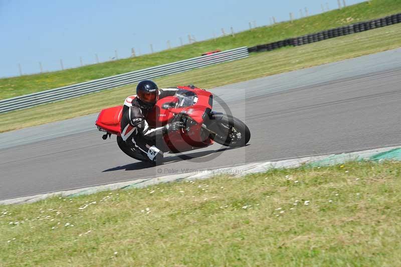
<svg viewBox="0 0 401 267"><path fill-rule="evenodd" d="M150 80L144 80L136 86L136 96L128 96L124 101L121 118L121 138L130 148L146 155L156 165L161 164L163 152L163 135L168 131L184 127L183 122L176 121L161 127L149 128L146 116L157 100L174 95L176 88L159 89Z"/></svg>

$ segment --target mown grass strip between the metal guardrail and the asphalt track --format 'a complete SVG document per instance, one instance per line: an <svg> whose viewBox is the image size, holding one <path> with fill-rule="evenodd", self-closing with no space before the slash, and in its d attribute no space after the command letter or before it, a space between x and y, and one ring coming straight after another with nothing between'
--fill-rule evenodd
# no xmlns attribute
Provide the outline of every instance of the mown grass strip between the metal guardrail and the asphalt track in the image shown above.
<svg viewBox="0 0 401 267"><path fill-rule="evenodd" d="M401 46L401 24L339 37L310 45L252 54L247 59L166 76L160 87L193 83L203 88L358 57ZM136 85L0 114L0 132L99 112L121 105ZM29 114L29 115L27 115Z"/></svg>

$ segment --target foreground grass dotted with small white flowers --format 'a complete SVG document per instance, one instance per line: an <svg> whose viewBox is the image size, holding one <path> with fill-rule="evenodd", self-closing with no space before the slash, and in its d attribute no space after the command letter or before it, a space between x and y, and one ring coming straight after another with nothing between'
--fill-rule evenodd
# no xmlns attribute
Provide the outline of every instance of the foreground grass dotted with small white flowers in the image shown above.
<svg viewBox="0 0 401 267"><path fill-rule="evenodd" d="M400 178L347 163L1 206L0 265L399 266Z"/></svg>

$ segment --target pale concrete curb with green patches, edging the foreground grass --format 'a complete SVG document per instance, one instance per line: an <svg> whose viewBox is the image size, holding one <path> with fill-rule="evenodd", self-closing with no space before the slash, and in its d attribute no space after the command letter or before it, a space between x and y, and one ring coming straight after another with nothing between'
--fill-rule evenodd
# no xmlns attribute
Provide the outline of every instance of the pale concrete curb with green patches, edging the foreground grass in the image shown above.
<svg viewBox="0 0 401 267"><path fill-rule="evenodd" d="M323 156L304 157L304 158L282 160L276 162L249 163L246 165L240 165L229 168L199 170L198 173L195 174L182 173L177 175L165 175L154 178L138 179L138 180L119 182L101 186L80 188L75 190L59 191L54 193L6 199L6 200L1 200L0 205L33 203L36 201L40 201L55 196L74 197L80 195L89 195L106 190L143 188L159 183L175 182L182 180L207 179L220 174L229 174L240 177L252 173L263 173L271 169L297 168L300 167L301 165L309 165L311 167L330 166L330 165L345 163L347 161L362 161L362 160L379 161L379 162L382 160L401 161L401 146L372 149L372 150L358 151L352 153L343 153L337 155L330 154Z"/></svg>

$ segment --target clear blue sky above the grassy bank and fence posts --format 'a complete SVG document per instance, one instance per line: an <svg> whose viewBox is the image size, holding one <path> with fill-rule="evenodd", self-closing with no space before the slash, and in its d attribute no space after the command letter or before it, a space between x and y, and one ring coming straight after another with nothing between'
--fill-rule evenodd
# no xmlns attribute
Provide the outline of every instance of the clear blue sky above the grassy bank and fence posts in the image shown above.
<svg viewBox="0 0 401 267"><path fill-rule="evenodd" d="M346 0L347 5L360 3ZM101 62L115 55L130 56L133 47L138 53L150 53L184 44L187 35L196 40L212 38L230 27L243 31L249 22L257 26L269 24L269 18L288 20L289 12L299 17L299 9L309 14L321 13L321 4L337 8L337 0L281 1L128 1L69 0L20 1L0 0L0 77L38 73L39 62L44 71L59 70L60 59L65 68ZM342 3L342 0L341 0Z"/></svg>

